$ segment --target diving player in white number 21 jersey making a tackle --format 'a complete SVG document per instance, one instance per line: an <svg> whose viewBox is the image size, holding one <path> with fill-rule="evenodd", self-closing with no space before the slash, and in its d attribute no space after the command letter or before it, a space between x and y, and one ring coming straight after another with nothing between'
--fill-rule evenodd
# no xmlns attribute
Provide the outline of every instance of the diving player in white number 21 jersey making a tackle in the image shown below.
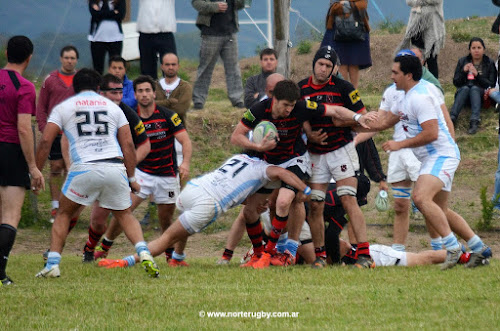
<svg viewBox="0 0 500 331"><path fill-rule="evenodd" d="M311 193L311 189L290 171L245 154L235 155L217 170L189 181L176 203L182 214L161 237L149 243L151 253L157 256L176 242L187 240L214 222L220 214L244 201L246 208L262 209L261 200L254 193L269 181L279 180L302 192L298 194L302 201L304 195ZM138 256L131 255L123 260L103 259L99 266L127 267L136 261Z"/></svg>

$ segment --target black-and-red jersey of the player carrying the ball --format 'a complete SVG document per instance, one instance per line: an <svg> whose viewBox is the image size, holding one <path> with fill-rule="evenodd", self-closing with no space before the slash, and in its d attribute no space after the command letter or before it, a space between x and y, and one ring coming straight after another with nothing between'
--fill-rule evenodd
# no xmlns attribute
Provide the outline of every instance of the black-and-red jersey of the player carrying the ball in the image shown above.
<svg viewBox="0 0 500 331"><path fill-rule="evenodd" d="M325 114L325 107L310 101L297 101L290 115L286 118L273 118L271 109L273 99L267 99L247 110L241 123L249 129L255 128L261 121L270 121L278 129L279 141L273 150L264 152L264 160L271 164L281 164L294 157L303 155L307 149L302 140L302 124L305 121L319 119Z"/></svg>

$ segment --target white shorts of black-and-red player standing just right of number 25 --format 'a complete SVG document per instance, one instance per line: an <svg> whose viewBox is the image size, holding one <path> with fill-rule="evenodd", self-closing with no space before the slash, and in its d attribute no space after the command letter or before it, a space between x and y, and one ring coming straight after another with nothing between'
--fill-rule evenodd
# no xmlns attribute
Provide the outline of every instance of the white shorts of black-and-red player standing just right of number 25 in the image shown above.
<svg viewBox="0 0 500 331"><path fill-rule="evenodd" d="M153 176L139 169L135 169L135 178L141 185L141 191L137 195L141 199L151 196L151 201L158 204L174 204L179 196L181 186L179 175L176 177Z"/></svg>

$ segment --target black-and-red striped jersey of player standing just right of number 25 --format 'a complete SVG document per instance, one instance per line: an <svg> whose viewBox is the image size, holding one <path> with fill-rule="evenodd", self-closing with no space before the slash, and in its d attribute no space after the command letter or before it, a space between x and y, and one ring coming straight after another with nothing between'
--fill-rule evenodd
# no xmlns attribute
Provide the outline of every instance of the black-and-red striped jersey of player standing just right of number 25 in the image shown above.
<svg viewBox="0 0 500 331"><path fill-rule="evenodd" d="M179 115L170 109L156 106L149 118L141 116L140 106L137 113L141 117L151 143L151 151L137 168L154 176L175 177L177 158L174 147L174 135L185 131Z"/></svg>

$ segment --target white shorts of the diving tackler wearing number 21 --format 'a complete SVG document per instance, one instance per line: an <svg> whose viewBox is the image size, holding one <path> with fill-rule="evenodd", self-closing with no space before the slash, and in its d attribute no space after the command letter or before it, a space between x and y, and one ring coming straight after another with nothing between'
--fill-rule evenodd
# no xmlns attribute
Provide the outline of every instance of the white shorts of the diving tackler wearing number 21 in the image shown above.
<svg viewBox="0 0 500 331"><path fill-rule="evenodd" d="M176 202L182 214L179 216L184 229L190 234L200 232L222 213L222 208L205 189L188 182Z"/></svg>

